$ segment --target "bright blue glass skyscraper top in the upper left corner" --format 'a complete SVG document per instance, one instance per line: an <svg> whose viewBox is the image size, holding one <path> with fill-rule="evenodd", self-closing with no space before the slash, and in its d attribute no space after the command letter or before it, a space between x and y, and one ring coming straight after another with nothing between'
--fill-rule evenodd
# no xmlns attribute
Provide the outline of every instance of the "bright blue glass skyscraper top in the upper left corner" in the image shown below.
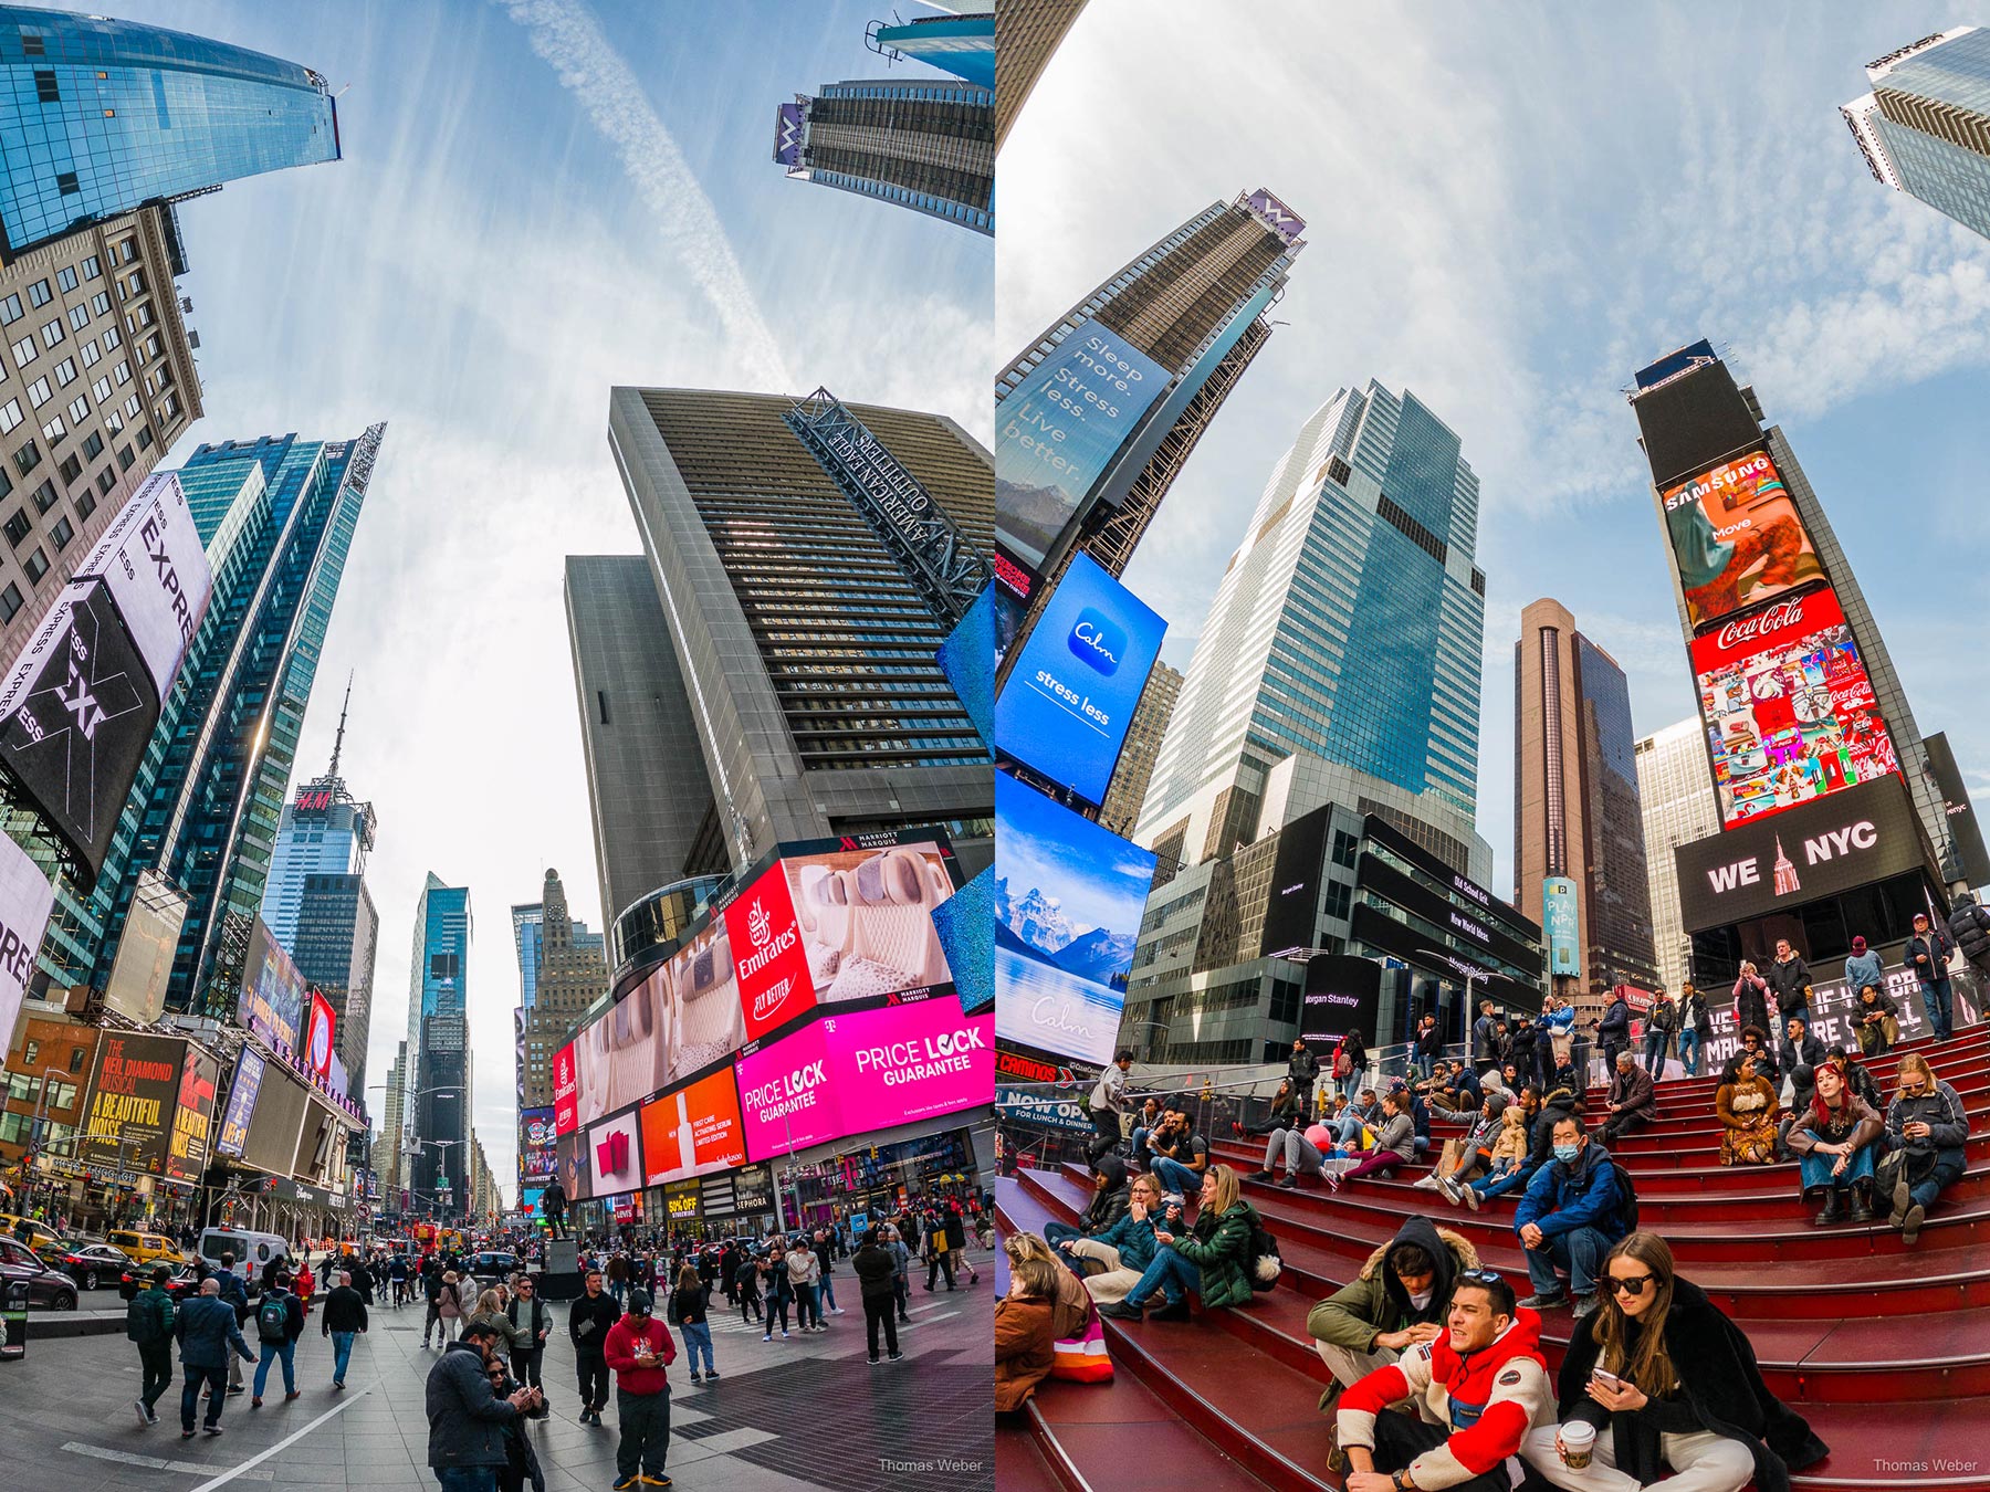
<svg viewBox="0 0 1990 1492"><path fill-rule="evenodd" d="M159 26L0 6L0 257L225 181L338 159L324 80Z"/></svg>

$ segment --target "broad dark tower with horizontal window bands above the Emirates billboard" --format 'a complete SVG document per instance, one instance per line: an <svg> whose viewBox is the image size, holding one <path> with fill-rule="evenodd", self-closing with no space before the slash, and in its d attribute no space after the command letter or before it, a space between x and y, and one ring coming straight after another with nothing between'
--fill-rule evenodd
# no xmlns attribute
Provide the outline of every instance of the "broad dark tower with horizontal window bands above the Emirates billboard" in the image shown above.
<svg viewBox="0 0 1990 1492"><path fill-rule="evenodd" d="M820 390L617 388L609 444L730 865L941 824L977 873L995 774L933 653L985 585L987 452L943 416Z"/></svg>

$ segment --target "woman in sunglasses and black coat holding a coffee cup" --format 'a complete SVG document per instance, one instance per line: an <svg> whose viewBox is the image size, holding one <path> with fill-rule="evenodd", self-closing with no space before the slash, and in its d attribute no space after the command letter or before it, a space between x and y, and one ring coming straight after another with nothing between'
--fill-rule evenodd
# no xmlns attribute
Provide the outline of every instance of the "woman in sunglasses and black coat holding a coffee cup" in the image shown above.
<svg viewBox="0 0 1990 1492"><path fill-rule="evenodd" d="M1803 1416L1761 1379L1755 1349L1658 1233L1628 1233L1604 1259L1600 1305L1576 1321L1558 1377L1560 1424L1528 1432L1524 1458L1572 1492L1789 1492L1791 1468L1825 1458ZM1596 1430L1568 1466L1562 1430Z"/></svg>

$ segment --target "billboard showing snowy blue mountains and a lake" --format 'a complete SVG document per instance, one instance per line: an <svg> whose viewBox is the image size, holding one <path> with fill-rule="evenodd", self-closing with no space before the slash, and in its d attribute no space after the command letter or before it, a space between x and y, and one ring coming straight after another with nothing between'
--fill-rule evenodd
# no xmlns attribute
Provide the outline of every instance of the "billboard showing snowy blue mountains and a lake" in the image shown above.
<svg viewBox="0 0 1990 1492"><path fill-rule="evenodd" d="M995 774L997 1036L1104 1066L1154 853Z"/></svg>

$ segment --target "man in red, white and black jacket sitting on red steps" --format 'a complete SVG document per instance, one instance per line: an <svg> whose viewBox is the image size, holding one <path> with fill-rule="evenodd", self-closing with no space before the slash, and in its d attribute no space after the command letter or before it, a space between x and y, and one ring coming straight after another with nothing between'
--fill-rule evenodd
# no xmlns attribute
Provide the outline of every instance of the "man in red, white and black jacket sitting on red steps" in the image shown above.
<svg viewBox="0 0 1990 1492"><path fill-rule="evenodd" d="M1421 1418L1387 1412L1403 1399ZM1506 1458L1536 1420L1554 1420L1540 1315L1516 1307L1491 1269L1467 1269L1451 1289L1447 1335L1341 1393L1327 1464L1347 1456L1347 1492L1506 1492Z"/></svg>

